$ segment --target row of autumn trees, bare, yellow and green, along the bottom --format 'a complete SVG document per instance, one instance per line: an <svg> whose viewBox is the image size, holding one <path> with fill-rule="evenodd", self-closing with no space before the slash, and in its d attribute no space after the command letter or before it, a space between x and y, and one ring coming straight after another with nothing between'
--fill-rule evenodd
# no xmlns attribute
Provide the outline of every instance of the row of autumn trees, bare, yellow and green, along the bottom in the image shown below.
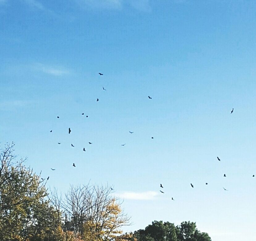
<svg viewBox="0 0 256 241"><path fill-rule="evenodd" d="M208 241L193 222L154 221L123 234L130 217L109 185L70 186L64 194L17 160L14 143L0 150L0 240L17 241Z"/></svg>

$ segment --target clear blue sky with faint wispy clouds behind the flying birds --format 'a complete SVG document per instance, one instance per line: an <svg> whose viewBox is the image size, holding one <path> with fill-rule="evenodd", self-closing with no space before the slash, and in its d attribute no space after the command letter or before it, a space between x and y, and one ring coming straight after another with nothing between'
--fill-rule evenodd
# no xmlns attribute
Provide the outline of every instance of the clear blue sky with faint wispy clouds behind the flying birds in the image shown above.
<svg viewBox="0 0 256 241"><path fill-rule="evenodd" d="M190 220L213 241L253 240L255 10L0 0L1 145L14 141L62 192L113 184L134 223L125 231Z"/></svg>

